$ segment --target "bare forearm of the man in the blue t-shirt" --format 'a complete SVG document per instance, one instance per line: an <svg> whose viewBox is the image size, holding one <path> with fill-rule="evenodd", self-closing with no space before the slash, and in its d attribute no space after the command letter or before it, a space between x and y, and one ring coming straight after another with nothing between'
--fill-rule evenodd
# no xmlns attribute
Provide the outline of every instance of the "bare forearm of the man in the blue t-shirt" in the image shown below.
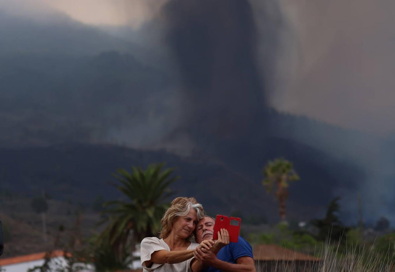
<svg viewBox="0 0 395 272"><path fill-rule="evenodd" d="M225 272L256 272L254 259L250 256L242 256L236 259L236 263L227 263L217 259L215 254L211 251L205 250L203 252L200 248L195 251L195 258L199 263L204 263L207 266L215 267Z"/></svg>

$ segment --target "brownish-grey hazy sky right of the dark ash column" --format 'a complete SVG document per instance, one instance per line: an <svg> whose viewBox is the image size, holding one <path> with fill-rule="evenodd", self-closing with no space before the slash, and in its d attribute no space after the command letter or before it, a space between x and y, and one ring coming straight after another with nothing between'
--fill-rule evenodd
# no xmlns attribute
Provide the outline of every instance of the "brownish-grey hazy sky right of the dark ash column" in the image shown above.
<svg viewBox="0 0 395 272"><path fill-rule="evenodd" d="M280 0L295 34L276 108L373 133L394 133L395 2ZM284 67L282 67L284 69Z"/></svg>

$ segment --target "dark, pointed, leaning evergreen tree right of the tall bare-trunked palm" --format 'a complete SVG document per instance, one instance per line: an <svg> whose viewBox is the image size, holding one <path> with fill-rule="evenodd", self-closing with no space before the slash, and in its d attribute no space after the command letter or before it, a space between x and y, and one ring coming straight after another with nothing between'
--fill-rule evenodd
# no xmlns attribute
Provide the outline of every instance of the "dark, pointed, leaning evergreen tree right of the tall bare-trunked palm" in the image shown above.
<svg viewBox="0 0 395 272"><path fill-rule="evenodd" d="M329 240L339 241L342 235L350 230L348 227L345 227L339 219L339 200L340 197L335 197L329 203L325 218L313 219L311 221L311 224L318 228L318 240L325 241L329 238Z"/></svg>

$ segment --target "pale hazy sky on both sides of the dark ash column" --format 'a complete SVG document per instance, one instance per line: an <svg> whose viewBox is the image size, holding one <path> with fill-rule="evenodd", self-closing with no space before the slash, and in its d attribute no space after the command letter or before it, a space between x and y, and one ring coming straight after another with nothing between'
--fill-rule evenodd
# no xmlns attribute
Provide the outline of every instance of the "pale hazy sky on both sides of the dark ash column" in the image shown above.
<svg viewBox="0 0 395 272"><path fill-rule="evenodd" d="M271 105L346 128L394 133L395 2L278 1L286 30ZM166 2L0 0L0 8L37 15L50 7L87 24L138 28Z"/></svg>

